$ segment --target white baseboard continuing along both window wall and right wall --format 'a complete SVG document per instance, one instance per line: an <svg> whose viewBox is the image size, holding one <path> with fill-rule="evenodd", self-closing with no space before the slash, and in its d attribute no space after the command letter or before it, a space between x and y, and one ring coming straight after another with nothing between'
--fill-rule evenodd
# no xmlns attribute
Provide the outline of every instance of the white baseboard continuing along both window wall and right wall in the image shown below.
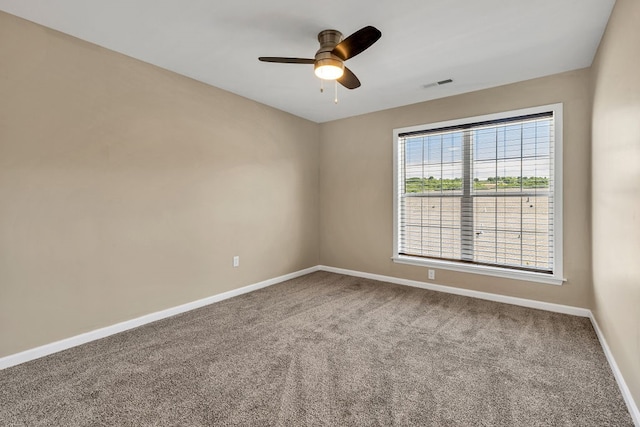
<svg viewBox="0 0 640 427"><path fill-rule="evenodd" d="M598 326L598 322L596 322L596 319L593 313L589 309L573 307L569 305L529 300L525 298L509 297L505 295L492 294L488 292L472 291L468 289L438 285L435 283L419 282L417 280L400 279L397 277L382 276L380 274L364 273L362 271L328 267L325 265L318 266L318 270L328 271L328 272L337 273L337 274L345 274L347 276L362 277L364 279L379 280L381 282L395 283L398 285L412 286L412 287L421 288L421 289L429 289L432 291L445 292L448 294L462 295L462 296L479 298L479 299L484 299L489 301L502 302L506 304L519 305L522 307L536 308L539 310L552 311L556 313L570 314L573 316L587 317L591 320L593 329L595 329L596 331L596 335L598 336L600 345L602 346L604 354L607 357L607 360L609 361L609 366L613 371L613 376L616 379L616 382L618 383L618 387L620 387L620 392L622 393L622 397L624 398L624 401L627 404L627 408L629 409L631 418L633 419L633 422L635 423L636 427L640 427L640 412L638 411L638 406L636 405L635 401L633 400L633 397L631 396L631 391L629 390L629 387L627 387L627 383L625 382L624 377L622 376L622 373L618 368L618 364L616 363L613 357L613 354L609 349L609 345L607 344L607 341L605 340L604 335L602 334L602 331Z"/></svg>

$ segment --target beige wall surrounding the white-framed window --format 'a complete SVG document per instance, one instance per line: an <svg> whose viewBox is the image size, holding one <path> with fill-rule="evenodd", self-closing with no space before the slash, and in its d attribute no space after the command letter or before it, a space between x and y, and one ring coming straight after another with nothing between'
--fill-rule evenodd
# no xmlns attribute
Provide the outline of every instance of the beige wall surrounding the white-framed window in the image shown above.
<svg viewBox="0 0 640 427"><path fill-rule="evenodd" d="M436 283L578 307L591 305L589 71L468 93L323 124L320 262L427 281L427 269L396 264L393 251L394 128L564 103L562 286L436 270ZM421 90L416 88L416 90Z"/></svg>

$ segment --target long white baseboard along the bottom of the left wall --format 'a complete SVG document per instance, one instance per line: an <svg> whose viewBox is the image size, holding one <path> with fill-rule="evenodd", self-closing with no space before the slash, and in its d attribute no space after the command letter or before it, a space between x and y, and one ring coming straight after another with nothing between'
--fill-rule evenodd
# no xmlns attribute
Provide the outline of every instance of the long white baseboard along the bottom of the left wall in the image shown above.
<svg viewBox="0 0 640 427"><path fill-rule="evenodd" d="M171 307L166 310L156 311L155 313L146 314L144 316L137 317L135 319L127 320L124 322L116 323L115 325L107 326L104 328L96 329L94 331L86 332L80 335L76 335L70 338L65 338L60 341L56 341L50 344L45 344L40 347L25 350L20 353L12 354L0 358L0 369L9 368L11 366L19 365L20 363L28 362L30 360L39 359L44 356L48 356L52 353L57 353L62 350L66 350L72 347L79 346L81 344L88 343L90 341L98 340L108 337L109 335L124 332L129 329L137 328L138 326L146 325L147 323L155 322L157 320L165 319L167 317L175 316L176 314L184 313L196 308L204 307L205 305L213 304L214 302L229 299L238 295L246 294L267 286L275 285L286 280L295 279L296 277L304 276L305 274L318 271L318 267L310 267L304 270L296 271L294 273L285 274L283 276L268 279L259 283L244 286L239 289L233 289L231 291L223 292L221 294L213 295L207 298L203 298L197 301L182 304L176 307Z"/></svg>

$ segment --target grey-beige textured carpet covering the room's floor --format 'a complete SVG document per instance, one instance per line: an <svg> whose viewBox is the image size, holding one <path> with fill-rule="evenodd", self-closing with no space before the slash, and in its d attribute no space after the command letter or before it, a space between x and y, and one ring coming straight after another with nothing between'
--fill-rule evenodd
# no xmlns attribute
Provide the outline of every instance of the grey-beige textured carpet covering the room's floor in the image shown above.
<svg viewBox="0 0 640 427"><path fill-rule="evenodd" d="M0 371L3 426L633 426L586 318L317 272Z"/></svg>

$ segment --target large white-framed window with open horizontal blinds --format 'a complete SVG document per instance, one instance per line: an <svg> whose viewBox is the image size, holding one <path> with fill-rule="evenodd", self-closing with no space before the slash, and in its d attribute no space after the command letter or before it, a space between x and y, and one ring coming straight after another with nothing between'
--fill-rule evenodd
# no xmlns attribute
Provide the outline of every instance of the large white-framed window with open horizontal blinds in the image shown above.
<svg viewBox="0 0 640 427"><path fill-rule="evenodd" d="M394 163L394 261L562 283L562 104L396 129Z"/></svg>

